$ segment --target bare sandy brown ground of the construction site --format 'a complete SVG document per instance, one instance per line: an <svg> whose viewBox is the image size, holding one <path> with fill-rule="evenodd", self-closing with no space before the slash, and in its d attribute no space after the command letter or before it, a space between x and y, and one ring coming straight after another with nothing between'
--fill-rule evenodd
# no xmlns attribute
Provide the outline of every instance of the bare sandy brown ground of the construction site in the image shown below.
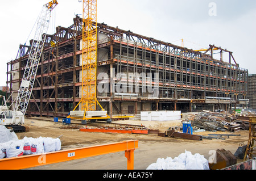
<svg viewBox="0 0 256 181"><path fill-rule="evenodd" d="M74 121L72 121L74 123ZM81 121L77 121L81 123ZM165 132L170 127L181 126L181 120L175 121L139 121L139 120L122 120L113 123L144 125L150 129L159 129ZM210 150L225 149L230 150L233 154L238 149L241 142L247 144L249 131L241 130L236 133L226 132L199 132L197 135L208 134L241 134L241 136L223 136L225 140L213 138L208 140L203 138L201 141L185 140L183 138L160 137L158 134L123 134L123 133L98 133L98 132L81 132L79 128L90 127L97 123L88 123L87 125L65 125L60 120L54 122L53 118L26 119L25 125L30 128L29 132L16 133L19 139L27 137L60 137L61 150L81 148L93 145L103 145L113 142L126 140L139 140L139 148L134 151L134 169L144 170L151 163L155 163L158 158L175 158L185 150L191 151L192 154L199 153L209 159ZM106 123L106 125L108 125ZM238 163L242 160L238 159ZM126 170L127 159L124 152L110 153L89 157L68 162L54 163L32 167L30 169L40 170Z"/></svg>

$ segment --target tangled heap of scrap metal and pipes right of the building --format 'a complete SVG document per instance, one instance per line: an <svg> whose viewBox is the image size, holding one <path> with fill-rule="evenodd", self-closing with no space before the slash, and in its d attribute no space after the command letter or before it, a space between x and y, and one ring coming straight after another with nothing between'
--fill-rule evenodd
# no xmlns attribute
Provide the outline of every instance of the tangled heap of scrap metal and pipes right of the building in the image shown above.
<svg viewBox="0 0 256 181"><path fill-rule="evenodd" d="M246 129L243 127L244 123L237 123L236 117L227 113L202 111L189 116L188 120L191 121L192 127L205 131L237 132L241 128Z"/></svg>

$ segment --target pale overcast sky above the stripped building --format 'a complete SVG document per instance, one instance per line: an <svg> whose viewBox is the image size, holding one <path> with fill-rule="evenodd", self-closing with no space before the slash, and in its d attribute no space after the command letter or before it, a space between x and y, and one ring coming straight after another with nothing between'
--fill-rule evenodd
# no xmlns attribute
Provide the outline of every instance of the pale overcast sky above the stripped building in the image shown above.
<svg viewBox="0 0 256 181"><path fill-rule="evenodd" d="M55 32L56 26L71 26L75 14L82 17L81 0L57 1L49 34ZM29 45L36 18L48 2L1 2L0 86L6 85L6 63L16 58L19 44ZM97 18L99 23L176 45L181 45L180 39L184 39L187 48L208 48L214 44L232 51L236 62L249 74L256 73L256 1L98 0Z"/></svg>

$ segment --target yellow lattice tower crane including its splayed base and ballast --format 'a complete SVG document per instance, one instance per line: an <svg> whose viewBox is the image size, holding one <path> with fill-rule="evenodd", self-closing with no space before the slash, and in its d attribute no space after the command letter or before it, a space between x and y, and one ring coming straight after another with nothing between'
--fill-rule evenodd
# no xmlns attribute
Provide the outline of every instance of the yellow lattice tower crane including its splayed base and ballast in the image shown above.
<svg viewBox="0 0 256 181"><path fill-rule="evenodd" d="M110 121L97 100L97 0L83 0L82 11L82 97L68 118Z"/></svg>

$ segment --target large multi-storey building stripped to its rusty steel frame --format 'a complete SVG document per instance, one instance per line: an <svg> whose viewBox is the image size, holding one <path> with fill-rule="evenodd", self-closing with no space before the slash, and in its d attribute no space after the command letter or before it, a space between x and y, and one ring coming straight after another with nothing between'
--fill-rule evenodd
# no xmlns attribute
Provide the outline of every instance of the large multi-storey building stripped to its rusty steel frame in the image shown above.
<svg viewBox="0 0 256 181"><path fill-rule="evenodd" d="M47 35L27 115L65 117L81 99L82 19L73 20L72 26ZM248 104L248 71L232 52L214 45L192 50L97 26L97 99L110 117L151 110L228 111ZM13 99L29 52L30 46L20 45L16 59L7 63L7 92Z"/></svg>

